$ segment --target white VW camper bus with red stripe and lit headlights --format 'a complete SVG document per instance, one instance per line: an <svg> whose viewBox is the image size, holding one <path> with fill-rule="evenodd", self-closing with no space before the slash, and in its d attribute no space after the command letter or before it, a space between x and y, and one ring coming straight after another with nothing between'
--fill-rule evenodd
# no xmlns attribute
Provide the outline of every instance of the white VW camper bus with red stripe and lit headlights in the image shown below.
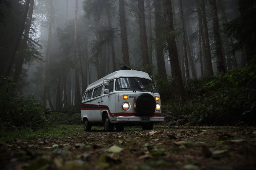
<svg viewBox="0 0 256 170"><path fill-rule="evenodd" d="M161 99L147 73L120 70L90 84L82 97L84 131L103 125L104 131L123 131L126 125L152 130L161 117Z"/></svg>

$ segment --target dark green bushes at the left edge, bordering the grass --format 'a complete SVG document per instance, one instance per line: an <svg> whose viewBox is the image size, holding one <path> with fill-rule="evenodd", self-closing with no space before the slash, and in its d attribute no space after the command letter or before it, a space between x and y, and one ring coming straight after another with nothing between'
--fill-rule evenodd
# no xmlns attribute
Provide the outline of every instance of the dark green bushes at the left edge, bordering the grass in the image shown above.
<svg viewBox="0 0 256 170"><path fill-rule="evenodd" d="M12 126L37 129L45 125L47 121L42 103L33 96L16 93L11 78L0 79L0 126L5 129L12 129Z"/></svg>

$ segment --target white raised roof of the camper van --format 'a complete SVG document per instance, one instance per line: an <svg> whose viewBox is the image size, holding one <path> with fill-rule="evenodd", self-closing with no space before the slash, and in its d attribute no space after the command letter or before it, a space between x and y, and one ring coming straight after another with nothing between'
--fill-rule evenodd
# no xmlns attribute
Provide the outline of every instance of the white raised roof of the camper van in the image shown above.
<svg viewBox="0 0 256 170"><path fill-rule="evenodd" d="M119 70L115 71L113 73L110 73L106 75L105 77L102 77L101 79L93 82L92 84L88 85L86 91L93 89L94 87L99 86L100 84L103 83L103 80L108 79L108 80L113 80L119 77L141 77L145 79L152 80L148 73L142 72L142 71L137 71L137 70Z"/></svg>

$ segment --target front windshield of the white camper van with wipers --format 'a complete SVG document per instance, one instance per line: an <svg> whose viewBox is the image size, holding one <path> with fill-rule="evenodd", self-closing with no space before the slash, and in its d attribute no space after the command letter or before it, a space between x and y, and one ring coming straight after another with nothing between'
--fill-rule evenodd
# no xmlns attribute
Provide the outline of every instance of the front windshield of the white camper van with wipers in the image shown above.
<svg viewBox="0 0 256 170"><path fill-rule="evenodd" d="M138 77L122 77L116 80L118 91L145 91L158 93L153 81Z"/></svg>

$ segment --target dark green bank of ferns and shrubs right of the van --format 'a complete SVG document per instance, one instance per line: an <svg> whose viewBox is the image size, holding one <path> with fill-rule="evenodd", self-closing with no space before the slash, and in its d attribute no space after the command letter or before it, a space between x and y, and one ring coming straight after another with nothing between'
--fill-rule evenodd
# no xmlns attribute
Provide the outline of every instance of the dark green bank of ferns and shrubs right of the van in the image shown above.
<svg viewBox="0 0 256 170"><path fill-rule="evenodd" d="M164 108L166 121L185 125L255 125L256 66L238 67L226 74L194 79L185 85L188 101L173 100Z"/></svg>

